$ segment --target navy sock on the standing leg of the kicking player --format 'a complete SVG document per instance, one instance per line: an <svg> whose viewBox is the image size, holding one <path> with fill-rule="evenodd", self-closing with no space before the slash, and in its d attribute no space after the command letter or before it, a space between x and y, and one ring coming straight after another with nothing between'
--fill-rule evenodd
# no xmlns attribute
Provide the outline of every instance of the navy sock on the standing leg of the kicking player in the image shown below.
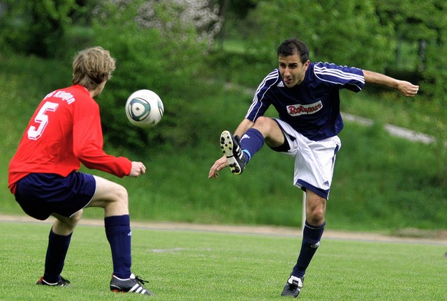
<svg viewBox="0 0 447 301"><path fill-rule="evenodd" d="M305 229L302 232L300 256L298 256L298 261L293 267L293 276L301 278L305 275L306 269L309 266L310 261L312 261L316 249L318 249L318 246L320 245L325 225L326 223L324 222L320 226L311 226L305 222Z"/></svg>

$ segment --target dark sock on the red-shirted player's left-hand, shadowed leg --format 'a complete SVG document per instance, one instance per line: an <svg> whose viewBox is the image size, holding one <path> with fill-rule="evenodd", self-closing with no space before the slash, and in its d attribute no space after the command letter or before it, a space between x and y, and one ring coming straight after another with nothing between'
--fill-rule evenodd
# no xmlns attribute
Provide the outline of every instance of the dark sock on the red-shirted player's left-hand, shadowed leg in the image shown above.
<svg viewBox="0 0 447 301"><path fill-rule="evenodd" d="M61 272L64 268L65 256L70 245L71 233L68 236L61 236L50 230L48 236L47 254L45 256L45 272L43 279L50 283L56 283L61 279Z"/></svg>

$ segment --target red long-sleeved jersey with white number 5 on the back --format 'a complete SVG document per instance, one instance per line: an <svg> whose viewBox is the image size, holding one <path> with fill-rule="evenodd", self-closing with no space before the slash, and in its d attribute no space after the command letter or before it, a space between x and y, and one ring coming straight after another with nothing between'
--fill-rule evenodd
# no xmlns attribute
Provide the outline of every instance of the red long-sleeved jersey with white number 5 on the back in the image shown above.
<svg viewBox="0 0 447 301"><path fill-rule="evenodd" d="M99 106L87 88L75 85L49 93L34 112L9 164L8 187L29 173L67 176L80 164L122 178L131 161L103 151Z"/></svg>

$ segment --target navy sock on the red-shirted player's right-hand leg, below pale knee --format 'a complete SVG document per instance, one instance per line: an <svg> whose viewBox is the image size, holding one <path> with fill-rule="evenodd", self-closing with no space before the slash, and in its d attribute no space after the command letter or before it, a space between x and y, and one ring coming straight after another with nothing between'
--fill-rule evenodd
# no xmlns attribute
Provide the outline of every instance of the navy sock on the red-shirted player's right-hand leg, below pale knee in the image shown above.
<svg viewBox="0 0 447 301"><path fill-rule="evenodd" d="M113 275L121 279L131 277L131 219L129 215L104 218L105 236L112 251Z"/></svg>

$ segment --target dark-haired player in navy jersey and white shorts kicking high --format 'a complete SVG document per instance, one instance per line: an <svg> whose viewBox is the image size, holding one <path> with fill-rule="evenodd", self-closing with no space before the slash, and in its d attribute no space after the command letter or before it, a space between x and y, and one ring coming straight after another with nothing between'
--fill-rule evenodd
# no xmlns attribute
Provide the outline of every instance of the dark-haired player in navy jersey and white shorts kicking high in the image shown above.
<svg viewBox="0 0 447 301"><path fill-rule="evenodd" d="M218 172L228 166L232 173L242 173L264 143L273 151L295 158L293 184L306 192L306 221L298 260L281 295L296 298L326 224L335 156L342 146L337 136L343 128L339 90L358 92L367 83L413 97L419 87L377 72L311 63L307 45L296 38L284 40L277 56L279 67L258 86L234 136L227 130L222 132L223 157L214 162L208 177L217 178ZM279 118L263 116L270 105Z"/></svg>

